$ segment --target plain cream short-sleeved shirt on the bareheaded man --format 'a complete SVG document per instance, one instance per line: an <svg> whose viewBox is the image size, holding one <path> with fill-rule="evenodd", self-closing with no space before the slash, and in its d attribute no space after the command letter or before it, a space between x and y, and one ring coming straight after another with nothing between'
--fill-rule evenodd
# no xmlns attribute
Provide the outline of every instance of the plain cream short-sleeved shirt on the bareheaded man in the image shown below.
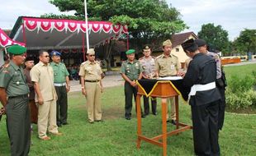
<svg viewBox="0 0 256 156"><path fill-rule="evenodd" d="M43 62L38 62L31 69L31 81L37 82L40 86L40 93L44 101L57 99L57 94L54 85L54 70L48 63L45 65ZM36 94L35 101L38 101Z"/></svg>

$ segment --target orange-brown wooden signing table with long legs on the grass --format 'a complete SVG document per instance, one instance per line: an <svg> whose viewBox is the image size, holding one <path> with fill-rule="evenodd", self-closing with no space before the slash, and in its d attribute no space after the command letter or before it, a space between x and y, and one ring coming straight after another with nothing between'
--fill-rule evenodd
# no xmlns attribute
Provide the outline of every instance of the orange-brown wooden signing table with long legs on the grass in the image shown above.
<svg viewBox="0 0 256 156"><path fill-rule="evenodd" d="M138 140L137 140L137 148L140 148L141 140L145 140L153 145L159 145L163 147L163 155L167 154L167 136L178 134L182 131L187 131L192 129L192 126L189 126L184 123L179 122L178 118L178 93L175 89L173 89L173 85L171 85L170 81L164 80L159 81L157 85L154 87L154 90L151 92L150 96L158 97L162 99L162 135L154 136L153 138L148 138L145 135L142 135L141 130L141 110L140 110L140 98L142 95L145 95L144 89L142 86L138 86L138 94L136 97L136 107L137 107L137 119L138 119ZM176 130L167 132L167 123L166 123L166 113L167 113L167 99L170 97L175 97L175 108L176 108ZM162 142L159 140L162 139Z"/></svg>

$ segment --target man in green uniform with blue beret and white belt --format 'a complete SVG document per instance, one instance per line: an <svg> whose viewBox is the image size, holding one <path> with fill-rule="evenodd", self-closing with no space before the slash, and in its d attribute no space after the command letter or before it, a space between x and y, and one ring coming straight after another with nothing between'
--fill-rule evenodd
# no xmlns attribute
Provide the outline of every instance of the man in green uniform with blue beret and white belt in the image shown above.
<svg viewBox="0 0 256 156"><path fill-rule="evenodd" d="M61 53L57 51L51 52L51 59L53 62L50 63L50 66L54 69L55 75L55 89L58 96L56 102L57 106L57 126L67 125L68 118L68 99L67 93L69 92L69 71L67 70L64 63L60 62Z"/></svg>

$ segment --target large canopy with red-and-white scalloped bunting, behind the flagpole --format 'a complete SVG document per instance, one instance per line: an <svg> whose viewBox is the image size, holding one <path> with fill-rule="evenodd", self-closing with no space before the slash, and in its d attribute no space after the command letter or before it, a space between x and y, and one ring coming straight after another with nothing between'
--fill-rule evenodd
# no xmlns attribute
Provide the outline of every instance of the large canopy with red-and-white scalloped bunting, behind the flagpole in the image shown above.
<svg viewBox="0 0 256 156"><path fill-rule="evenodd" d="M18 18L11 38L26 44L28 49L60 49L86 47L85 21L45 19L36 17ZM90 47L104 44L127 34L126 25L112 25L107 21L88 21Z"/></svg>

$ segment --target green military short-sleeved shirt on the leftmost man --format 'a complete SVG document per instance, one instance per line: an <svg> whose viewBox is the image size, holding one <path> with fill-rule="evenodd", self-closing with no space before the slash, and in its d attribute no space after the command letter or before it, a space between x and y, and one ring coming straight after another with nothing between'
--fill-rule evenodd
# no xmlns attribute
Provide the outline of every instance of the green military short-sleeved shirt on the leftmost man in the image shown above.
<svg viewBox="0 0 256 156"><path fill-rule="evenodd" d="M6 89L7 97L29 94L23 69L10 61L9 66L3 67L0 73L0 87Z"/></svg>

